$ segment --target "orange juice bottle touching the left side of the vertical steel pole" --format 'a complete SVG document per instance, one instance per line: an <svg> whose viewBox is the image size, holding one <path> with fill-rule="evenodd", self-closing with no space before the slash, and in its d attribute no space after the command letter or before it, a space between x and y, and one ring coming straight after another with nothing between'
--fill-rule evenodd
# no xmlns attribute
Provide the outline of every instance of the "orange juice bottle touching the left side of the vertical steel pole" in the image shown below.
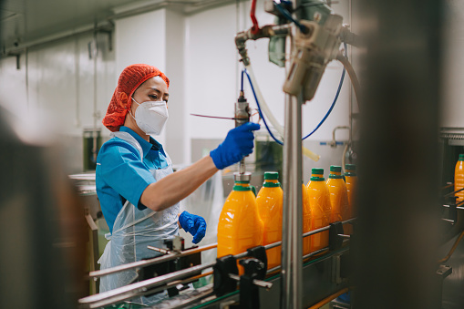
<svg viewBox="0 0 464 309"><path fill-rule="evenodd" d="M282 241L282 204L284 191L276 171L264 172L263 187L258 192L256 203L263 221L263 245ZM267 251L267 269L281 264L281 249L278 246Z"/></svg>

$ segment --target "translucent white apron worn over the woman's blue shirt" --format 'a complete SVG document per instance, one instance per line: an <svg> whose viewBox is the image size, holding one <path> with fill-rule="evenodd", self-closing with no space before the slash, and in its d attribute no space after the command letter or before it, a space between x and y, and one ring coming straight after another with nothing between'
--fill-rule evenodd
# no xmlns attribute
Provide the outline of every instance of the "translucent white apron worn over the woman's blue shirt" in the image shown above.
<svg viewBox="0 0 464 309"><path fill-rule="evenodd" d="M111 133L112 138L124 139L139 149L140 160L143 152L137 139L127 132ZM166 153L168 167L160 170L150 170L155 180L160 180L173 172L170 157ZM160 255L147 248L148 245L163 248L163 240L173 238L179 234L178 213L180 204L177 203L164 211L152 211L149 208L140 211L136 206L126 201L114 222L112 234L105 237L109 240L105 251L98 263L100 269L107 269L126 263L133 263L146 258ZM113 273L100 278L100 293L127 285L136 277L134 270ZM167 297L167 293L150 297L138 297L132 301L142 304L154 304Z"/></svg>

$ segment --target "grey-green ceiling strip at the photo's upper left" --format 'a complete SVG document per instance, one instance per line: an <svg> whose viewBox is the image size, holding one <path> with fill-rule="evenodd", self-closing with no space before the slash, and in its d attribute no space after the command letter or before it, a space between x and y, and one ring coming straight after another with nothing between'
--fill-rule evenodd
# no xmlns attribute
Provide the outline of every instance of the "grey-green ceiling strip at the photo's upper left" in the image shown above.
<svg viewBox="0 0 464 309"><path fill-rule="evenodd" d="M0 55L46 36L170 7L185 14L243 0L0 0Z"/></svg>

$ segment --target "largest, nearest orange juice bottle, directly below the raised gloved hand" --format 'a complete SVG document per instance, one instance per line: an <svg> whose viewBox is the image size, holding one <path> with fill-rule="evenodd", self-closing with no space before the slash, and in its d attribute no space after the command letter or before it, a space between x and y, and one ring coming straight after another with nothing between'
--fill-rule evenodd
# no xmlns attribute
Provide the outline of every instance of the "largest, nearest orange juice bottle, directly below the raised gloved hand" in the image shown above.
<svg viewBox="0 0 464 309"><path fill-rule="evenodd" d="M250 186L251 174L236 173L234 176L233 190L219 217L218 257L246 252L249 248L263 244L263 221ZM242 274L242 265L238 267Z"/></svg>

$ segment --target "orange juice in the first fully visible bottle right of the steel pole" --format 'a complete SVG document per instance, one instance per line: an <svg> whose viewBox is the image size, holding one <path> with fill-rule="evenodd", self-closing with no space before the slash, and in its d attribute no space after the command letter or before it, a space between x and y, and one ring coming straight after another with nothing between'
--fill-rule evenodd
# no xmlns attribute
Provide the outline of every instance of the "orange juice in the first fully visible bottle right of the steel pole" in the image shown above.
<svg viewBox="0 0 464 309"><path fill-rule="evenodd" d="M324 177L311 177L307 185L309 207L311 209L311 230L327 226L330 222L330 195ZM311 237L311 252L329 245L329 232L319 232Z"/></svg>

